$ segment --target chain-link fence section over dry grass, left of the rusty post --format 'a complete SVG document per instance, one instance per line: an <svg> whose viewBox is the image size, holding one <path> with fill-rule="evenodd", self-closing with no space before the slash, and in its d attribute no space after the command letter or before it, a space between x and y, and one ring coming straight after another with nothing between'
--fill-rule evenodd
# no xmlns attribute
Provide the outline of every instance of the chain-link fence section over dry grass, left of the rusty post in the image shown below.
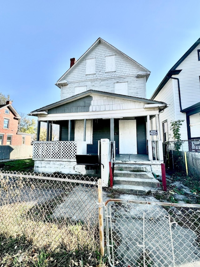
<svg viewBox="0 0 200 267"><path fill-rule="evenodd" d="M0 236L24 237L35 249L99 248L97 178L1 172L0 214Z"/></svg>

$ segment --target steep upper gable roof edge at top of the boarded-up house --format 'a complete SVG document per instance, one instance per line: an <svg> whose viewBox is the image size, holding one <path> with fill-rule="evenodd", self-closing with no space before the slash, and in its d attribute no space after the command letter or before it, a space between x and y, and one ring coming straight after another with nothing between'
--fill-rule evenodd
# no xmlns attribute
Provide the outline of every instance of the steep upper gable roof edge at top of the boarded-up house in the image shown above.
<svg viewBox="0 0 200 267"><path fill-rule="evenodd" d="M58 84L59 82L62 81L63 77L66 76L67 74L71 73L73 71L73 69L76 68L76 66L78 66L78 64L80 64L83 59L88 56L88 54L90 53L91 50L93 50L95 47L98 46L98 44L103 43L105 44L107 47L109 47L110 49L114 50L116 53L120 54L121 56L123 56L124 58L126 58L127 60L129 60L132 64L136 65L139 69L141 69L142 72L146 73L146 80L148 80L148 77L150 75L150 71L148 69L146 69L145 67L143 67L141 64L139 64L138 62L136 62L135 60L133 60L132 58L130 58L129 56L127 56L126 54L124 54L123 52L121 52L120 50L118 50L117 48L115 48L113 45L107 43L106 41L104 41L103 39L101 39L100 37L97 39L97 41L76 61L75 64L73 64L73 66L71 68L69 68L65 74L63 74L63 76L57 81L57 83L55 83L55 85L57 85L60 88L60 85ZM141 73L139 75L144 75L144 73ZM66 80L64 80L65 82L67 82Z"/></svg>

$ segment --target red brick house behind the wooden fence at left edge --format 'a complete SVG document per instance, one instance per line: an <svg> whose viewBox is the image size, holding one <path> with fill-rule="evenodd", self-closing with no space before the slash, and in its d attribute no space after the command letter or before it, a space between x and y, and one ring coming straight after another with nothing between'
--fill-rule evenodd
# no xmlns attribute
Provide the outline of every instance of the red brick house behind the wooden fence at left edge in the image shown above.
<svg viewBox="0 0 200 267"><path fill-rule="evenodd" d="M10 100L0 105L0 145L31 145L31 134L18 131L20 119Z"/></svg>

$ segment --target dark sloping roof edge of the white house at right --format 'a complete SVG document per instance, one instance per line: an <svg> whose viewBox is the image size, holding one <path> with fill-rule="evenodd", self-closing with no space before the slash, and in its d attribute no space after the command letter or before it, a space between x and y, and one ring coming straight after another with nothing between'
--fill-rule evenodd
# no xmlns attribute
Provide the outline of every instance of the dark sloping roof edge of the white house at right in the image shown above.
<svg viewBox="0 0 200 267"><path fill-rule="evenodd" d="M166 76L164 77L164 79L162 80L162 82L158 85L157 89L155 90L155 92L153 93L153 95L151 96L150 99L154 99L158 93L160 92L160 90L163 88L163 86L168 82L168 80L170 79L170 77L172 75L176 75L179 74L181 72L182 69L180 70L176 70L176 68L178 68L178 66L183 62L183 60L185 60L187 58L187 56L197 47L197 45L200 44L200 38L187 50L187 52L177 61L177 63L175 63L173 65L173 67L168 71L168 73L166 74Z"/></svg>

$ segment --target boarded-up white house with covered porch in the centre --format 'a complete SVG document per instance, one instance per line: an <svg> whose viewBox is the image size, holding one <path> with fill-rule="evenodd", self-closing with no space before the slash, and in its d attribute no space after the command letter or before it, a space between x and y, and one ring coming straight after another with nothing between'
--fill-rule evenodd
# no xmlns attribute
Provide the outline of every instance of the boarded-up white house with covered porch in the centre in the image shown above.
<svg viewBox="0 0 200 267"><path fill-rule="evenodd" d="M98 154L98 141L115 141L115 153L146 155L144 161L160 171L159 112L166 103L146 99L150 71L99 38L58 80L61 100L32 111L38 117L33 144L35 170L85 173L76 154ZM151 129L151 119L157 125ZM47 122L47 141L39 141L40 122ZM52 140L52 125L60 127ZM150 130L157 130L156 141ZM160 141L162 142L162 141ZM153 167L152 167L153 169ZM156 172L156 171L155 171Z"/></svg>

